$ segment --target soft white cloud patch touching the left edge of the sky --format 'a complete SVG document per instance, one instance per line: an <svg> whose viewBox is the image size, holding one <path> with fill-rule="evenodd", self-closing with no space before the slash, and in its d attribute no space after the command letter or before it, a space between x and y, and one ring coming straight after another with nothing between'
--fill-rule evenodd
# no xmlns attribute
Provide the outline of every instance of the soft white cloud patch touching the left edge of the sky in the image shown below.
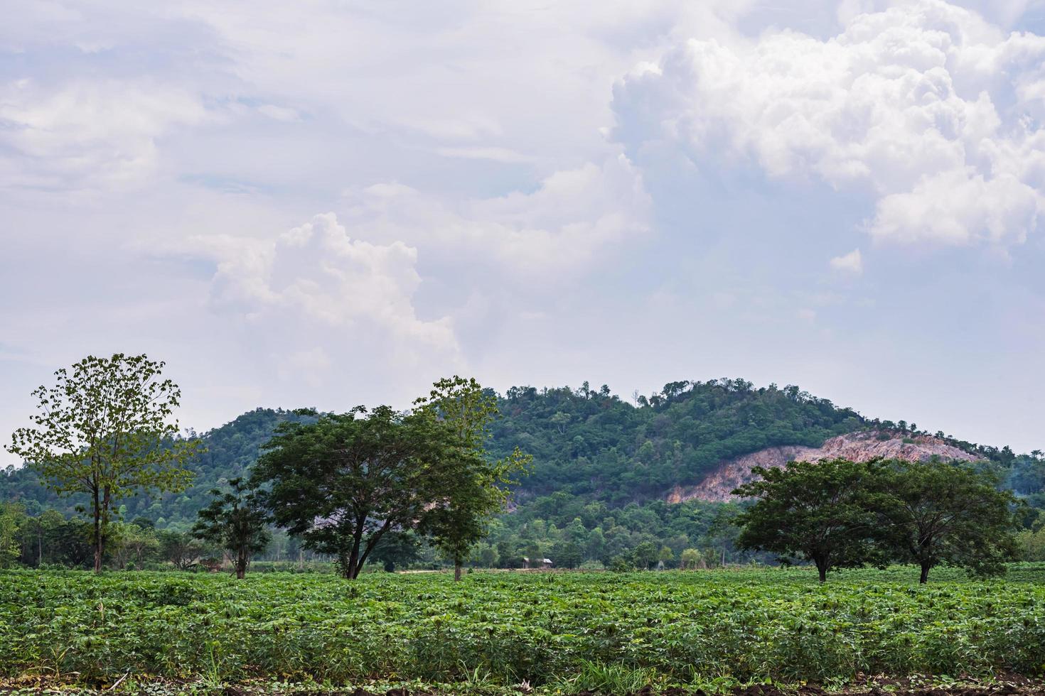
<svg viewBox="0 0 1045 696"><path fill-rule="evenodd" d="M0 187L137 186L158 164L157 140L207 117L201 97L150 81L18 80L0 89Z"/></svg>

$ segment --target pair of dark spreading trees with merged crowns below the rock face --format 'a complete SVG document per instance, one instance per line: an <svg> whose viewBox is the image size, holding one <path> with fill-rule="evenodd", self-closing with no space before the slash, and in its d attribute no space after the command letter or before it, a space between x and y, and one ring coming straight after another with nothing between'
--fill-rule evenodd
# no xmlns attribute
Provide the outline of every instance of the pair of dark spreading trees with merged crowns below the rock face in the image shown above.
<svg viewBox="0 0 1045 696"><path fill-rule="evenodd" d="M1016 498L990 469L943 461L789 462L734 493L757 499L737 519L742 548L827 572L887 560L995 575L1020 555Z"/></svg>

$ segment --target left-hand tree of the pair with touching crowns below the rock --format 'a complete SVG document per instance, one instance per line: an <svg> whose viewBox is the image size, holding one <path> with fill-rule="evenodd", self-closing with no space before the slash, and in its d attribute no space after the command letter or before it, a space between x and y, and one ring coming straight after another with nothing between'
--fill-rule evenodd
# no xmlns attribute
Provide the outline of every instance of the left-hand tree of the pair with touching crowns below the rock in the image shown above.
<svg viewBox="0 0 1045 696"><path fill-rule="evenodd" d="M876 466L833 459L754 467L762 478L733 491L757 499L737 519L743 526L737 545L775 553L783 562L812 561L820 582L830 570L877 559L876 517L865 504Z"/></svg>

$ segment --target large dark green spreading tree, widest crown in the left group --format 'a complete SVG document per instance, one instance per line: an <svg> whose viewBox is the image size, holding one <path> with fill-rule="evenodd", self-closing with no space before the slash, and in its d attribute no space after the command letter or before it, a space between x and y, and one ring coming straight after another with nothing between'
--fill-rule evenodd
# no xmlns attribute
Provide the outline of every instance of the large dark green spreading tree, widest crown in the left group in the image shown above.
<svg viewBox="0 0 1045 696"><path fill-rule="evenodd" d="M350 579L385 534L427 524L460 472L481 466L449 424L388 406L283 423L264 450L254 480L271 486L276 524Z"/></svg>

